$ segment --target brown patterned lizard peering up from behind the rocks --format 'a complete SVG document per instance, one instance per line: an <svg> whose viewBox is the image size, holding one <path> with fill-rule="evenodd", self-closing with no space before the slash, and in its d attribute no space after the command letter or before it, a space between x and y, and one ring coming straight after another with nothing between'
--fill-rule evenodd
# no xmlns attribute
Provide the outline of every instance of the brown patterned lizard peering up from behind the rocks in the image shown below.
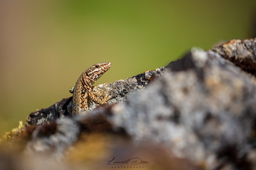
<svg viewBox="0 0 256 170"><path fill-rule="evenodd" d="M98 99L93 93L93 84L111 67L110 62L97 63L87 68L79 77L75 87L70 88L70 93L73 94L72 99L72 116L80 114L84 111L89 111L90 100L98 105L103 105L108 102L114 95L109 96L104 92L104 97Z"/></svg>

